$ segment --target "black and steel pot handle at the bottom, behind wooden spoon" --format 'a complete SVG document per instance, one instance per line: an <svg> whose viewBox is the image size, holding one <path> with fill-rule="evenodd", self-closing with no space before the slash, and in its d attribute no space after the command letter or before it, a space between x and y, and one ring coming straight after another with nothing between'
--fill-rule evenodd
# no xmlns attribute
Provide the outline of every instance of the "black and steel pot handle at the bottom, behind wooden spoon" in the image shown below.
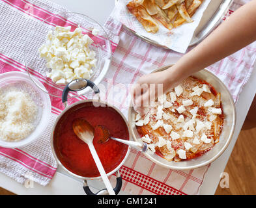
<svg viewBox="0 0 256 208"><path fill-rule="evenodd" d="M119 173L119 170L117 170L116 175L117 175L117 185L115 185L115 188L113 188L113 190L115 191L115 194L119 194L122 188L122 177ZM83 181L83 190L85 190L85 194L87 195L109 195L109 193L107 192L107 188L104 188L96 192L96 194L94 194L89 188L86 180Z"/></svg>

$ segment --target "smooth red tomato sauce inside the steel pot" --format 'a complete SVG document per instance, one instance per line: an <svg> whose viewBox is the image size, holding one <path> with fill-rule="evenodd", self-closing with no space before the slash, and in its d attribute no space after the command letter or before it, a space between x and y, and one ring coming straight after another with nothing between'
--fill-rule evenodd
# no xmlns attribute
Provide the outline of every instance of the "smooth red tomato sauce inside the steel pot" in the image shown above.
<svg viewBox="0 0 256 208"><path fill-rule="evenodd" d="M94 107L81 103L65 112L53 133L53 145L59 161L71 172L83 177L98 177L100 173L85 142L75 135L72 123L76 118L87 120L93 127L104 125L110 136L129 140L129 131L122 116L111 107ZM93 144L106 173L111 172L124 159L128 146L109 139L100 144L100 133L94 132ZM98 135L98 136L97 136Z"/></svg>

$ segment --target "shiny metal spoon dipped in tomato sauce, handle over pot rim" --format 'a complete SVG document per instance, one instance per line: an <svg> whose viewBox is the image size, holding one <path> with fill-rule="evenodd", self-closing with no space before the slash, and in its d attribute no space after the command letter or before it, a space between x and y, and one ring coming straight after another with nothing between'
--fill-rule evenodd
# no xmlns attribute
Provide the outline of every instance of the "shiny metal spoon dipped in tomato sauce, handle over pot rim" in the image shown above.
<svg viewBox="0 0 256 208"><path fill-rule="evenodd" d="M100 143L105 143L107 142L107 140L109 140L109 138L117 141L117 142L121 142L123 144L127 144L129 146L131 146L132 148L135 148L139 151L142 152L146 152L148 150L148 144L143 142L135 142L135 141L130 141L130 140L124 140L121 138L115 138L115 137L111 137L109 135L109 131L106 127L104 127L104 125L96 125L95 129L97 128L98 132L101 131L101 139L99 140Z"/></svg>

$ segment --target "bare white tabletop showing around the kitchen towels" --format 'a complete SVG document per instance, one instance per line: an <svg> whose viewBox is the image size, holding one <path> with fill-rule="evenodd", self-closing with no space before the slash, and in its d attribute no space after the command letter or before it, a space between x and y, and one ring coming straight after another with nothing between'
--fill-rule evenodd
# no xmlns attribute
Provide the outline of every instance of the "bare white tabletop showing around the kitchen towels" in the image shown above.
<svg viewBox="0 0 256 208"><path fill-rule="evenodd" d="M111 13L111 10L115 6L115 2L113 0L94 0L94 1L81 1L81 0L51 0L54 3L59 5L63 5L68 10L73 12L80 12L83 14L87 14L88 16L96 19L101 25L103 25ZM102 6L104 5L104 6ZM92 8L95 8L92 9ZM97 11L97 12L96 12ZM216 161L212 162L208 172L205 175L205 180L203 181L203 185L200 190L200 194L214 194L216 192L216 188L218 187L218 183L220 181L220 175L224 171L225 166L227 165L227 161L229 161L229 157L231 152L235 146L236 140L248 113L249 107L256 93L255 88L256 83L256 67L251 75L251 79L244 86L244 90L240 94L240 99L236 105L237 108L237 121L236 121L236 129L229 144L229 147L226 151L221 155ZM96 192L98 188L102 188L103 185L100 182L93 181L93 183L89 183L89 185ZM25 188L20 183L17 183L10 177L7 177L4 174L0 173L0 187L3 187L11 192L16 194L84 194L82 188L82 181L78 181L75 178L68 176L63 170L58 169L55 176L51 180L50 184L46 187L42 187L41 185L34 184L34 188ZM126 194L122 192L121 194Z"/></svg>

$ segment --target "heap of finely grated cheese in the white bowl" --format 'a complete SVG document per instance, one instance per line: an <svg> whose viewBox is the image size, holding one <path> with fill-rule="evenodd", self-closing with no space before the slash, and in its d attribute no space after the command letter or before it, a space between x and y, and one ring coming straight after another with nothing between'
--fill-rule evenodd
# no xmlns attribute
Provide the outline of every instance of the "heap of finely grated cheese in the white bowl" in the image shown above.
<svg viewBox="0 0 256 208"><path fill-rule="evenodd" d="M18 141L35 129L38 108L33 99L18 88L0 89L0 139Z"/></svg>

